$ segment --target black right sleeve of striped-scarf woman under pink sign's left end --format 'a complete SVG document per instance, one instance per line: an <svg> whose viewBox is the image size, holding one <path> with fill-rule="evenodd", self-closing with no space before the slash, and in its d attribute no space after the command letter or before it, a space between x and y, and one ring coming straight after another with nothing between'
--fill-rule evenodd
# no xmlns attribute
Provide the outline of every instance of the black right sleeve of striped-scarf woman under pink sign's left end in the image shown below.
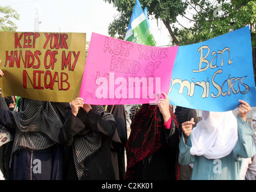
<svg viewBox="0 0 256 192"><path fill-rule="evenodd" d="M106 121L104 118L102 118L102 115L100 115L94 109L91 109L87 113L84 124L86 127L90 128L91 131L97 131L107 137L111 137L117 128L115 121Z"/></svg>

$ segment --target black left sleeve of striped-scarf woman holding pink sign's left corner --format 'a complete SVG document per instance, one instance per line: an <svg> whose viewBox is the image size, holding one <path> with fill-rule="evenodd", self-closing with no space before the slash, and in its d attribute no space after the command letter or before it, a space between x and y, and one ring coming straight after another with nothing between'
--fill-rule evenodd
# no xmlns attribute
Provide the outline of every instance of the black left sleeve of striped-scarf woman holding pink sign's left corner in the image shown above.
<svg viewBox="0 0 256 192"><path fill-rule="evenodd" d="M59 132L59 141L66 146L71 146L76 134L78 134L83 128L85 128L84 123L77 118L70 111L67 116L67 120L61 127Z"/></svg>

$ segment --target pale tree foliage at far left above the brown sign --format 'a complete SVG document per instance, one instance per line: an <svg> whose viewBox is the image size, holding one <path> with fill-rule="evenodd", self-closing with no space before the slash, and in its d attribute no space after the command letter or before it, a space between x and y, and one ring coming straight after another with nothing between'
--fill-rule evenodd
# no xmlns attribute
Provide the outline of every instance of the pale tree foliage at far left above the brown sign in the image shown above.
<svg viewBox="0 0 256 192"><path fill-rule="evenodd" d="M19 20L20 15L10 6L0 6L0 31L16 31L17 25L13 19Z"/></svg>

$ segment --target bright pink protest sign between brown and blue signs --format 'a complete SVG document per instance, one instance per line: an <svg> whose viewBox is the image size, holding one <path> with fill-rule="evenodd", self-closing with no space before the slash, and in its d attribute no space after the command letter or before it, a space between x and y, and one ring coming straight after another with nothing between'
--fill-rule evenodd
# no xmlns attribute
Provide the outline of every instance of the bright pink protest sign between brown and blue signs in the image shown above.
<svg viewBox="0 0 256 192"><path fill-rule="evenodd" d="M99 105L157 103L168 94L177 50L93 33L79 97Z"/></svg>

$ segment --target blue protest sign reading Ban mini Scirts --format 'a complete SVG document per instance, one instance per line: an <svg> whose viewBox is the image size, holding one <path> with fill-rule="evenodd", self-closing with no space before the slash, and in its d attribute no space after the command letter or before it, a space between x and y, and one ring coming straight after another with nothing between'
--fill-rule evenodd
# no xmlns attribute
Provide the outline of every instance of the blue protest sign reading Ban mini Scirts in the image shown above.
<svg viewBox="0 0 256 192"><path fill-rule="evenodd" d="M168 96L170 104L225 112L244 100L256 106L249 27L178 47Z"/></svg>

